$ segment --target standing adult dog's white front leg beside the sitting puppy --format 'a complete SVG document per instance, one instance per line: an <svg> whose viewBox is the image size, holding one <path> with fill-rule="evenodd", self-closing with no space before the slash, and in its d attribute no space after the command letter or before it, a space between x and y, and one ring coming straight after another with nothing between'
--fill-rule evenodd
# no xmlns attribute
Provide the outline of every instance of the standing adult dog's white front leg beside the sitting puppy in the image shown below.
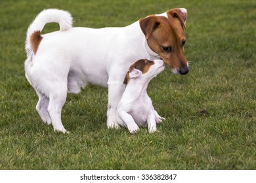
<svg viewBox="0 0 256 183"><path fill-rule="evenodd" d="M108 82L108 112L107 112L107 126L108 128L118 128L119 124L116 119L117 105L123 95L125 85L122 82L113 83Z"/></svg>

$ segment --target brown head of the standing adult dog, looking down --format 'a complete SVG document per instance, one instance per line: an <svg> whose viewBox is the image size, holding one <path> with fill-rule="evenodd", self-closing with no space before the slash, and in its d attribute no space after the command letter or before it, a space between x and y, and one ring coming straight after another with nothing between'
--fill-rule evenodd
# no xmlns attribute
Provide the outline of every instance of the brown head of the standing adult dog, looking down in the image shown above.
<svg viewBox="0 0 256 183"><path fill-rule="evenodd" d="M181 75L188 73L188 61L184 56L186 17L185 8L175 8L139 20L150 49L167 63L173 73Z"/></svg>

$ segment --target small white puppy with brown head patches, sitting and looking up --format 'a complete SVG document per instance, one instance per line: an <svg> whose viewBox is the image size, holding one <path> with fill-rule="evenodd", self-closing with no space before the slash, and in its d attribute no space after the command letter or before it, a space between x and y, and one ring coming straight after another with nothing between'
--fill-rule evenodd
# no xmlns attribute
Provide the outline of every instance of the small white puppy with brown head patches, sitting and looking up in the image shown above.
<svg viewBox="0 0 256 183"><path fill-rule="evenodd" d="M124 80L125 92L117 106L117 122L128 128L130 133L139 130L139 126L148 125L149 133L156 131L156 124L165 118L154 110L146 89L152 78L164 69L161 59L150 61L140 59L131 65Z"/></svg>

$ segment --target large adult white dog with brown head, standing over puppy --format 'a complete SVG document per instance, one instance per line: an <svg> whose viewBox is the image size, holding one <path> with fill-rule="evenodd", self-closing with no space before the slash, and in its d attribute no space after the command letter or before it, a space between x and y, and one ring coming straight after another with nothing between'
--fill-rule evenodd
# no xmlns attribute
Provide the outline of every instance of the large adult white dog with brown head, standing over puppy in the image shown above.
<svg viewBox="0 0 256 183"><path fill-rule="evenodd" d="M188 73L184 56L186 9L175 8L141 18L126 27L92 29L72 27L63 10L43 10L28 28L26 78L39 101L43 122L66 133L61 111L67 93L79 93L87 84L108 87L108 127L119 127L117 105L125 85L123 77L132 61L163 59L173 73ZM41 35L45 24L57 22L60 31Z"/></svg>

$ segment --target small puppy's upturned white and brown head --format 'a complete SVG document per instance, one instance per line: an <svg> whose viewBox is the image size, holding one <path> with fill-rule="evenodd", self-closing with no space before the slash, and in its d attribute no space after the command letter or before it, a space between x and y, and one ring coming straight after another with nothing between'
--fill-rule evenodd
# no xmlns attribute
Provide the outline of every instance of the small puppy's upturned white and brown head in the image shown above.
<svg viewBox="0 0 256 183"><path fill-rule="evenodd" d="M123 84L128 84L131 79L146 79L151 80L154 76L158 75L164 69L164 63L161 59L150 61L148 59L139 59L131 67L125 75Z"/></svg>

